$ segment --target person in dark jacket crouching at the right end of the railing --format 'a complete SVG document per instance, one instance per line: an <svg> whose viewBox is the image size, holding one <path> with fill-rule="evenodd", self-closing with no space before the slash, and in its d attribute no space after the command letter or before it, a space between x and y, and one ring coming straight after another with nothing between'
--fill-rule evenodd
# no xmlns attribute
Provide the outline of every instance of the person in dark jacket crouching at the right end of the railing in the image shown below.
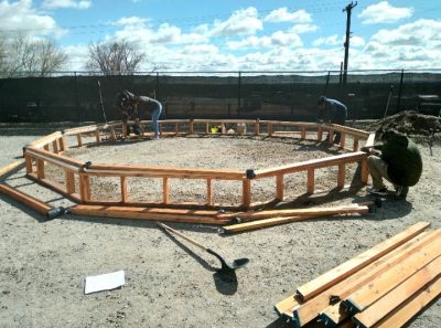
<svg viewBox="0 0 441 328"><path fill-rule="evenodd" d="M386 195L383 178L394 184L396 195L406 198L409 187L417 184L422 173L422 159L417 145L406 135L394 130L381 135L379 145L369 150L367 163L373 186L367 191Z"/></svg>

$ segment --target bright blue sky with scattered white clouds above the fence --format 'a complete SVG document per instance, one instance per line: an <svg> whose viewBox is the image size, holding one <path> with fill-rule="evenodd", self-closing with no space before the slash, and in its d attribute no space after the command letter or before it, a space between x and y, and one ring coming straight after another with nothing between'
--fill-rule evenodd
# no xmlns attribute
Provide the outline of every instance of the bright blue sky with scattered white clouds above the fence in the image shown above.
<svg viewBox="0 0 441 328"><path fill-rule="evenodd" d="M0 0L0 33L54 40L67 70L84 70L92 42L126 40L143 71L327 71L343 61L349 2ZM349 70L441 68L439 0L361 0L351 31Z"/></svg>

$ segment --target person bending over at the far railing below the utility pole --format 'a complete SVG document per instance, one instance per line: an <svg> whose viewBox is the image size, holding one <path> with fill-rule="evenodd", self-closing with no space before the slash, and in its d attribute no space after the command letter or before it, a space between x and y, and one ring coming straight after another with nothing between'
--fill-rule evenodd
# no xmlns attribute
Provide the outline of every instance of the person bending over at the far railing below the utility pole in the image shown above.
<svg viewBox="0 0 441 328"><path fill-rule="evenodd" d="M347 117L347 107L336 99L321 96L318 102L319 121L345 125ZM340 144L342 134L335 131L334 144Z"/></svg>

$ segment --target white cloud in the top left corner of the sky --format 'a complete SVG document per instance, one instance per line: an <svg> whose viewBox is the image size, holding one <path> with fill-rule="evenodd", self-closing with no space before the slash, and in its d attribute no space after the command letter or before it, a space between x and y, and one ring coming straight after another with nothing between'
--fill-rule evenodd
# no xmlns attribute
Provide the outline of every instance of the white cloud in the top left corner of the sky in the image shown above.
<svg viewBox="0 0 441 328"><path fill-rule="evenodd" d="M0 29L11 33L22 32L55 38L64 33L53 18L32 8L32 0L1 1Z"/></svg>

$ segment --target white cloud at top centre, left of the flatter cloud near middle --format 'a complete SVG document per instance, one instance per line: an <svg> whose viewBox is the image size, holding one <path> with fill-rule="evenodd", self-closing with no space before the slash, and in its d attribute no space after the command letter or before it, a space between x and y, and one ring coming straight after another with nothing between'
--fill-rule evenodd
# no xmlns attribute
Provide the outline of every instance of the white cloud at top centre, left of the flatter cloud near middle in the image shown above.
<svg viewBox="0 0 441 328"><path fill-rule="evenodd" d="M211 33L215 36L255 34L263 29L257 15L257 10L252 7L237 10L226 21L215 21Z"/></svg>

